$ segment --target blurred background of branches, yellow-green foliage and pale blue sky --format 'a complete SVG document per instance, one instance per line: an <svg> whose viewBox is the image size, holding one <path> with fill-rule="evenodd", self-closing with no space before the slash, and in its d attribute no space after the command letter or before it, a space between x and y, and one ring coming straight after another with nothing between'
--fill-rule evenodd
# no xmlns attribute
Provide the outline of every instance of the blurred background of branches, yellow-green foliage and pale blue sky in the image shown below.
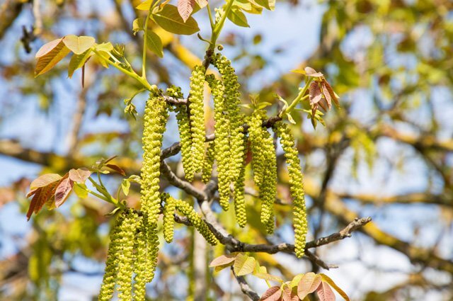
<svg viewBox="0 0 453 301"><path fill-rule="evenodd" d="M123 113L123 100L139 87L96 64L86 67L84 89L79 71L67 79L67 62L35 79L34 54L62 35L92 35L98 42L124 43L127 58L139 69L142 40L132 33L132 20L143 13L134 10L139 2L0 2L2 300L96 299L111 222L105 213L112 208L73 196L61 210L43 210L26 223L25 193L30 179L41 173L62 174L113 154L128 175L137 174L142 125L140 118ZM278 106L274 93L283 98L297 94L302 76L290 69L308 65L323 72L340 95L342 108L326 114L326 127L314 131L310 120L293 115L299 125L293 130L304 167L309 237L335 232L355 217L374 219L352 239L316 250L340 266L328 274L353 300L452 300L453 2L290 0L278 1L279 11L272 20L285 24L283 32L273 30L277 25L267 21L273 12L266 11L251 17L253 34L230 24L219 42L243 84L243 103L259 95L275 104L268 108L270 115ZM300 18L309 14L319 18L299 27ZM205 11L195 18L201 28L209 26ZM162 88L180 85L187 93L190 69L206 45L195 36L154 30L165 55L150 54L151 82ZM277 35L280 40L287 36L287 42L269 43ZM316 40L312 49L307 37ZM281 62L289 66L284 71ZM145 98L145 93L135 98L139 113ZM211 132L212 127L208 123ZM175 133L169 127L166 146L178 141ZM273 237L265 237L253 190L248 191L250 225L245 230L235 225L231 210L217 210L219 220L244 242L291 242L282 157L281 201L275 206L279 230ZM169 163L182 173L178 159ZM112 191L120 181L117 175L105 176ZM168 183L162 185L167 189ZM131 191L128 202L137 202L137 186ZM186 197L174 188L168 191ZM207 247L192 229L178 227L176 243L159 256L150 300L243 300L229 271L213 277L206 268L223 252L222 246ZM257 259L287 279L319 270L284 254L257 254ZM265 290L262 280L251 284L259 293Z"/></svg>

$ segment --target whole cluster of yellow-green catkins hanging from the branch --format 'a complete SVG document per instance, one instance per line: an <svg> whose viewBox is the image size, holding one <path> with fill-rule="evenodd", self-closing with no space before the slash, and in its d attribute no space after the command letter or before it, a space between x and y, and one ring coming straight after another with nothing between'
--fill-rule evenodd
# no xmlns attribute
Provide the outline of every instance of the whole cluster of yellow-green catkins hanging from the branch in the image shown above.
<svg viewBox="0 0 453 301"><path fill-rule="evenodd" d="M152 280L156 268L159 251L157 229L162 206L164 238L167 242L173 240L175 212L178 211L207 242L217 244L217 238L205 220L188 202L176 200L159 191L160 154L168 110L173 109L176 112L185 178L193 181L195 175L200 174L203 182L211 181L215 162L219 204L224 210L229 210L230 199L233 199L236 220L240 227L245 227L247 222L244 185L246 153L250 149L253 181L261 200L260 220L269 234L274 231L273 204L277 197L277 159L273 135L263 126L263 122L267 120L265 110L255 110L246 120L240 110L239 82L231 62L217 54L212 57L212 64L219 71L219 79L213 74L206 74L203 66L193 69L188 105L179 104L171 108L160 91L150 93L144 110L141 210L139 213L125 210L117 217L110 237L107 267L99 300L110 300L115 287L120 300L144 300L144 285ZM205 142L206 82L214 98L215 140L212 142ZM180 89L176 87L167 89L167 94L183 98ZM295 252L298 257L302 257L307 222L298 152L287 125L275 123L273 132L280 137L280 144L285 151L290 191L294 199Z"/></svg>

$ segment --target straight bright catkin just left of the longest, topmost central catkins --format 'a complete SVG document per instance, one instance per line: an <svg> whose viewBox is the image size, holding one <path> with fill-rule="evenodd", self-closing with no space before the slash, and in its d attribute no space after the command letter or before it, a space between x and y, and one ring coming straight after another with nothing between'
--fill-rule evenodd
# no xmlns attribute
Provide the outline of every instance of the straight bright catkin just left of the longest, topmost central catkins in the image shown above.
<svg viewBox="0 0 453 301"><path fill-rule="evenodd" d="M202 171L203 157L205 154L205 108L204 108L204 88L205 72L203 66L195 66L190 77L190 127L192 133L192 164L193 172Z"/></svg>

